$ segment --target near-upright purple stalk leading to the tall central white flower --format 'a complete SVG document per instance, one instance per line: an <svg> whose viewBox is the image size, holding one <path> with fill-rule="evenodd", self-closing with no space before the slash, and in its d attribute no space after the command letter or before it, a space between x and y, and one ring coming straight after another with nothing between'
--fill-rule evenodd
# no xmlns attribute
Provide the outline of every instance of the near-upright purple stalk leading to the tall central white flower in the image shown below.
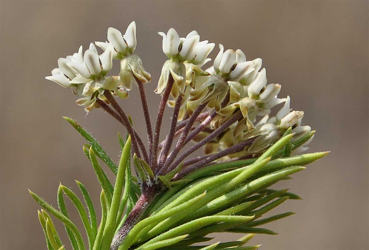
<svg viewBox="0 0 369 250"><path fill-rule="evenodd" d="M150 167L154 171L157 166L157 158L158 158L158 145L159 145L159 137L160 137L160 129L163 121L164 110L166 106L166 102L168 101L170 91L172 91L174 79L171 74L169 74L168 84L166 85L164 94L159 104L158 109L158 117L156 118L155 124L155 132L154 132L154 140L152 142L152 147L150 149Z"/></svg>

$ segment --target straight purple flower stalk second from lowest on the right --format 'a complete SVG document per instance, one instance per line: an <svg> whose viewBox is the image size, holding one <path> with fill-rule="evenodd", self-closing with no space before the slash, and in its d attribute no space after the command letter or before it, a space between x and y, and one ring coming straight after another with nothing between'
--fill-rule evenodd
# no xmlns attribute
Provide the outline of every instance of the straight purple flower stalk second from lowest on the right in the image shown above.
<svg viewBox="0 0 369 250"><path fill-rule="evenodd" d="M197 149L201 148L203 145L207 144L208 142L210 142L211 140L213 140L215 137L217 137L220 133L222 133L224 130L226 130L229 126L231 126L233 123L235 123L236 121L238 121L240 118L242 117L242 113L241 110L239 110L238 112L236 112L231 119L229 119L227 122L223 123L220 127L218 127L216 130L214 130L213 133L211 133L210 135L208 135L207 137L205 137L203 140L197 142L197 144L195 144L193 147L187 149L186 152L184 152L171 166L170 168L166 171L172 171L173 169L175 169L176 166L178 166L179 163L181 163L183 161L184 158L186 158L187 156L189 156L190 154L192 154L194 151L196 151Z"/></svg>

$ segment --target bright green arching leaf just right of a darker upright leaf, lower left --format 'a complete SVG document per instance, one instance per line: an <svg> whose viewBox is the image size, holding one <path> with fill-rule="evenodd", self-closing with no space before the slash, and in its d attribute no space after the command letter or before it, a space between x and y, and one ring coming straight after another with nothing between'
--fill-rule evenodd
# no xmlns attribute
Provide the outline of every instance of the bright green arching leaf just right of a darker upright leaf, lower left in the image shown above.
<svg viewBox="0 0 369 250"><path fill-rule="evenodd" d="M92 233L92 228L91 228L90 221L88 219L86 210L83 207L82 202L79 200L77 195L72 190L70 190L66 186L63 186L62 184L60 186L62 187L63 192L66 194L66 196L68 196L70 201L72 201L74 206L77 208L77 211L79 213L79 216L81 217L83 226L85 227L85 230L86 230L87 239L88 239L88 242L89 242L89 248L91 249L93 247L93 243L95 241L95 238L94 238L93 233Z"/></svg>

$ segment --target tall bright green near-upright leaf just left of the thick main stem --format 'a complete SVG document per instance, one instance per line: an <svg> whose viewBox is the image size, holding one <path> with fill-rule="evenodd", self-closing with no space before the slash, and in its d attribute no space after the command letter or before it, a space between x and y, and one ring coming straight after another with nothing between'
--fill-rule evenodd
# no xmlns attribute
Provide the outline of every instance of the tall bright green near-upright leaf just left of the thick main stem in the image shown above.
<svg viewBox="0 0 369 250"><path fill-rule="evenodd" d="M125 169L127 167L127 162L130 156L130 149L131 149L131 137L128 137L127 141L125 142L122 155L119 161L117 180L115 181L113 199L111 200L109 214L106 219L101 249L109 249L111 240L113 239L113 234L115 231L115 222L117 221L119 203L125 179Z"/></svg>

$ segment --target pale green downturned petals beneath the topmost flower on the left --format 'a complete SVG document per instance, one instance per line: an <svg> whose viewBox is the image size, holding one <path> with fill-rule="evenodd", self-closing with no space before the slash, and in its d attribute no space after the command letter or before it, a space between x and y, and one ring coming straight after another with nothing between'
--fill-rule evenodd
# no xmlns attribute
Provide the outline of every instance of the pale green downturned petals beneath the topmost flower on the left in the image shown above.
<svg viewBox="0 0 369 250"><path fill-rule="evenodd" d="M143 82L151 81L151 74L145 71L141 58L137 54L130 54L120 61L120 80L125 90L132 89L132 83L137 84L135 77Z"/></svg>

